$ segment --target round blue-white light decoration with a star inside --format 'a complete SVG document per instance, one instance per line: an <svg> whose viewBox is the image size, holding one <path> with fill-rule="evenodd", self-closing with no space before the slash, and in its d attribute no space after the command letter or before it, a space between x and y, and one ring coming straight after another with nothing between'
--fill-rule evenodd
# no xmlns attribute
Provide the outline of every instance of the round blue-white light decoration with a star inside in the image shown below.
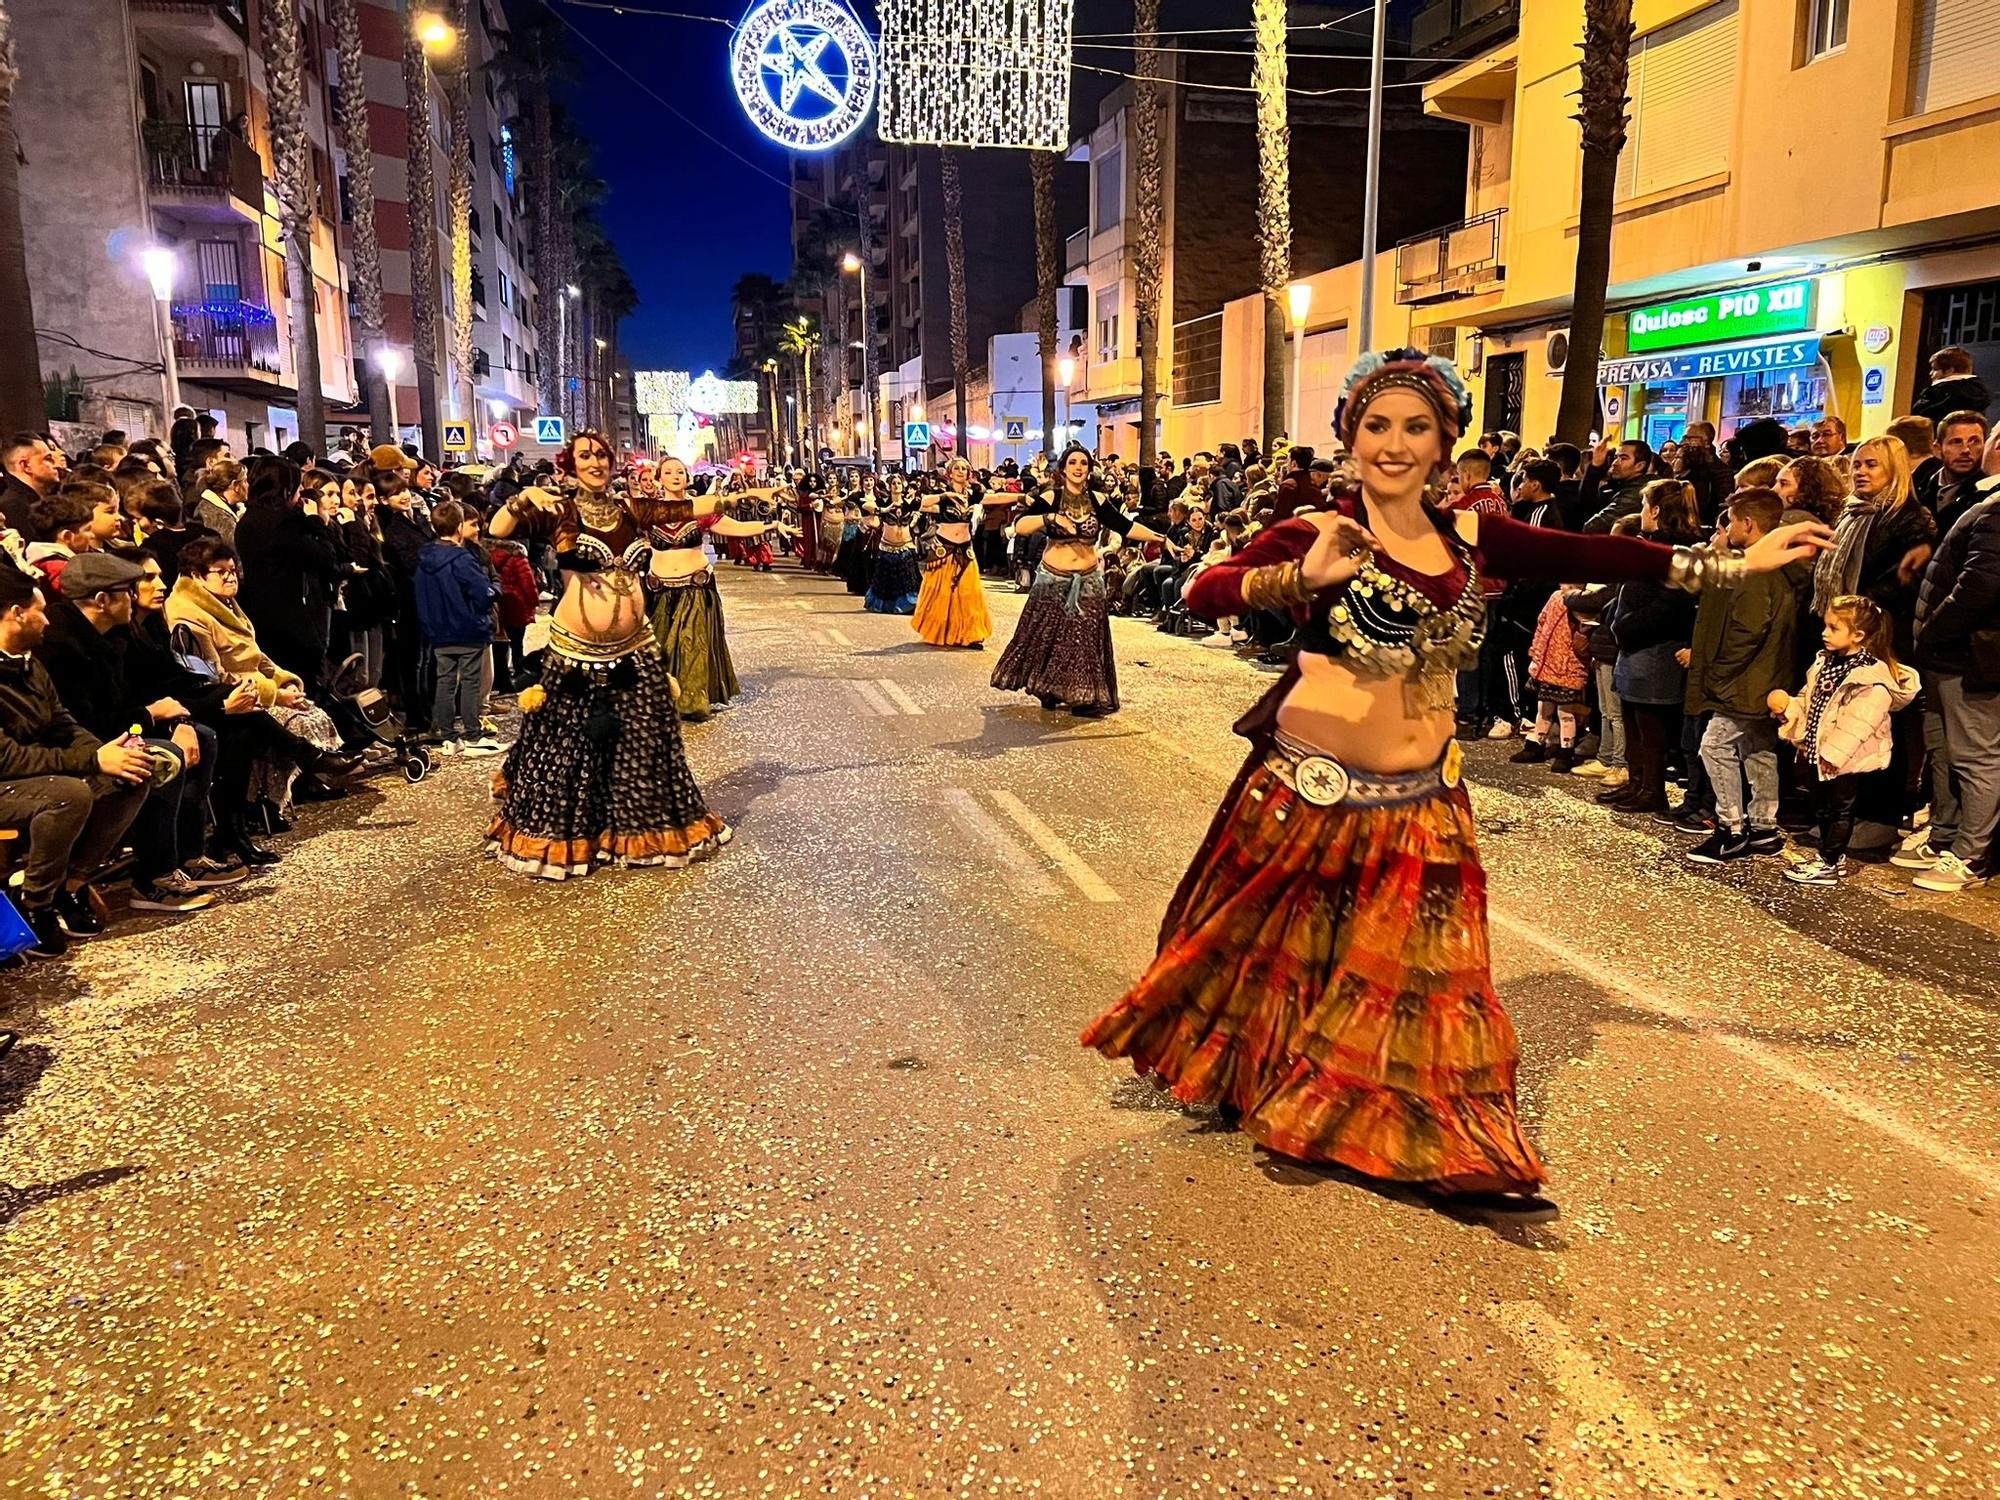
<svg viewBox="0 0 2000 1500"><path fill-rule="evenodd" d="M750 124L798 152L852 136L874 104L874 42L840 0L764 0L730 44Z"/></svg>

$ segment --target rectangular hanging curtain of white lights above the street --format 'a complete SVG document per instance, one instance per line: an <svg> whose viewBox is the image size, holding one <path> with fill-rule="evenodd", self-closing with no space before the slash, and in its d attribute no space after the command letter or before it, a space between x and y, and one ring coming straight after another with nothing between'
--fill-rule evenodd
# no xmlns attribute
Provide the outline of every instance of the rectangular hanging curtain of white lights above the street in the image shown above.
<svg viewBox="0 0 2000 1500"><path fill-rule="evenodd" d="M1070 144L1074 0L880 0L882 140Z"/></svg>

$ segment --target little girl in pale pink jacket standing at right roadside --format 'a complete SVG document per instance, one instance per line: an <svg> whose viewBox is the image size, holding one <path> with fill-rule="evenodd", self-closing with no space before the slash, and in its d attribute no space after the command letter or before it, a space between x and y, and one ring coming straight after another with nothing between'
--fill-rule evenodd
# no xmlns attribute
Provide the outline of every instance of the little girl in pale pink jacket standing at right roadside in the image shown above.
<svg viewBox="0 0 2000 1500"><path fill-rule="evenodd" d="M1872 598L1842 594L1828 604L1820 640L1826 650L1806 668L1806 686L1796 696L1770 694L1770 712L1782 720L1778 736L1798 746L1820 824L1820 858L1784 872L1802 886L1846 876L1854 792L1866 772L1888 766L1890 714L1918 690L1916 672L1896 660L1890 616Z"/></svg>

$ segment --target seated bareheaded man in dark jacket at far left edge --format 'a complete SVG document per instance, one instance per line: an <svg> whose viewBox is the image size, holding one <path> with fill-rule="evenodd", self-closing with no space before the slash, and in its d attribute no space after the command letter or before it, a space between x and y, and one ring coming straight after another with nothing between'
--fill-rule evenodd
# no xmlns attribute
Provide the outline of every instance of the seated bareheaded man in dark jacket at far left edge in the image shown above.
<svg viewBox="0 0 2000 1500"><path fill-rule="evenodd" d="M152 778L152 756L100 742L62 706L32 654L46 630L42 590L0 566L0 828L26 834L20 910L34 930L30 958L56 958L70 938L104 932L84 882L118 848Z"/></svg>

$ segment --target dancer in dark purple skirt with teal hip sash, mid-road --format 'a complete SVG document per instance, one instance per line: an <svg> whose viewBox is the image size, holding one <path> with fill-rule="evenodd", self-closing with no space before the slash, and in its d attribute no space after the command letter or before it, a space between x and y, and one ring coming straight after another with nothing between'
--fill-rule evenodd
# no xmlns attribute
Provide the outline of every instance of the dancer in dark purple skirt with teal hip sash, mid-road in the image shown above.
<svg viewBox="0 0 2000 1500"><path fill-rule="evenodd" d="M1042 708L1068 706L1084 716L1118 712L1118 662L1098 538L1114 532L1128 542L1166 540L1126 520L1110 496L1092 486L1096 462L1088 448L1066 448L1054 482L1014 522L1016 538L1042 532L1048 546L1014 638L994 664L996 688L1024 688Z"/></svg>

